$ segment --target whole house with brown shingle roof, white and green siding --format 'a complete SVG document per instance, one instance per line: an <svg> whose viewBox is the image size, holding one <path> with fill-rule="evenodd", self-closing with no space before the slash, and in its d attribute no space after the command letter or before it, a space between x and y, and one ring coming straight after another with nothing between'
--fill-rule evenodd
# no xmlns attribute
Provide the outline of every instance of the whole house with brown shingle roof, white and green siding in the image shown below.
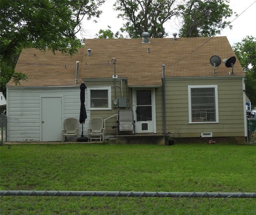
<svg viewBox="0 0 256 215"><path fill-rule="evenodd" d="M88 39L79 52L71 58L22 51L16 72L29 80L6 86L8 141L60 141L63 120L79 118L82 82L85 131L97 116L105 119L106 135L116 135L118 111L133 110L136 134L172 133L184 142L245 141L245 74L230 58L235 54L226 37Z"/></svg>

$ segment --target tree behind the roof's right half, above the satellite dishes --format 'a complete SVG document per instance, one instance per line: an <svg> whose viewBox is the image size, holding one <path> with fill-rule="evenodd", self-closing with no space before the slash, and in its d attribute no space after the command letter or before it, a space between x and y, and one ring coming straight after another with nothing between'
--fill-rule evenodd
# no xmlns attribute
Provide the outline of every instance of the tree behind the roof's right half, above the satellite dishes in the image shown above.
<svg viewBox="0 0 256 215"><path fill-rule="evenodd" d="M182 6L180 37L206 37L220 34L232 16L228 0L189 0ZM232 26L229 26L231 29Z"/></svg>

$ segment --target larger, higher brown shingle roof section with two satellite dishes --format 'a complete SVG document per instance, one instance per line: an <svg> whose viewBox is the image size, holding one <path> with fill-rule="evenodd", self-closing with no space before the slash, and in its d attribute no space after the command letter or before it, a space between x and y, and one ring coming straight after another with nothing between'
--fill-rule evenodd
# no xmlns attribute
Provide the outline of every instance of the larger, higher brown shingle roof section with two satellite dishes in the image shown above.
<svg viewBox="0 0 256 215"><path fill-rule="evenodd" d="M83 78L111 78L114 66L108 61L114 57L118 78L128 78L135 86L161 85L162 64L166 77L212 77L213 55L221 60L235 55L226 37L150 38L149 44L142 39L89 39L85 49L91 49L92 56L84 53ZM215 76L229 76L228 72L231 68L222 62ZM232 76L244 76L238 60Z"/></svg>

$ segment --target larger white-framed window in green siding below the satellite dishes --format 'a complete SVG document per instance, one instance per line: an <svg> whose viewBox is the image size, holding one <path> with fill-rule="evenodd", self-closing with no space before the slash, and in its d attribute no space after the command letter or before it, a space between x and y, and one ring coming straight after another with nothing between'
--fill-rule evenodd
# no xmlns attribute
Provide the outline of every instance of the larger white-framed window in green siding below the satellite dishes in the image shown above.
<svg viewBox="0 0 256 215"><path fill-rule="evenodd" d="M219 122L218 86L188 86L189 123Z"/></svg>

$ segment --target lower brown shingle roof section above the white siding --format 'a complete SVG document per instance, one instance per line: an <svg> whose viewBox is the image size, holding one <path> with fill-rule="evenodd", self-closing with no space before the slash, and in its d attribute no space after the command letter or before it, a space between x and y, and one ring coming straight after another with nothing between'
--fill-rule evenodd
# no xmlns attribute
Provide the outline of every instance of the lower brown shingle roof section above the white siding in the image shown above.
<svg viewBox="0 0 256 215"><path fill-rule="evenodd" d="M28 81L21 81L21 86L80 85L82 66L79 65L78 84L75 84L76 61L82 64L84 48L79 48L78 51L80 54L70 56L61 52L54 55L51 51L41 52L35 48L22 50L15 72L27 74ZM15 84L10 80L7 86Z"/></svg>

